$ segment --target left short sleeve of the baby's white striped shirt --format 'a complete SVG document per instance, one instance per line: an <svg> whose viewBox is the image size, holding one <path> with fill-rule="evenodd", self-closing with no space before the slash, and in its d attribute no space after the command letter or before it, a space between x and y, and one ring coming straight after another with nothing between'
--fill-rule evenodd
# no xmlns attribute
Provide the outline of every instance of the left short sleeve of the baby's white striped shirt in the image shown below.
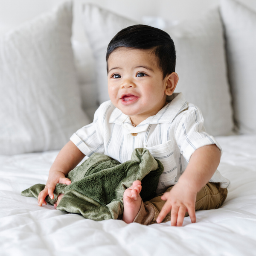
<svg viewBox="0 0 256 256"><path fill-rule="evenodd" d="M104 106L99 106L94 114L93 122L80 128L70 137L70 140L87 157L95 152L104 154L104 134L101 118L104 113Z"/></svg>

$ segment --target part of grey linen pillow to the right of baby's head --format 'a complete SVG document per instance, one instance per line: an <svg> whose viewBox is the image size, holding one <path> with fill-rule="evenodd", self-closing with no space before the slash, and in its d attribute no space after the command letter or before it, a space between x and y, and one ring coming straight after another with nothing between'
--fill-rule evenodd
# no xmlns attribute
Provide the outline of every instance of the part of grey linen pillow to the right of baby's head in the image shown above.
<svg viewBox="0 0 256 256"><path fill-rule="evenodd" d="M180 79L175 91L182 92L188 102L201 109L209 134L230 134L233 129L231 96L218 9L165 31L176 47L176 72Z"/></svg>

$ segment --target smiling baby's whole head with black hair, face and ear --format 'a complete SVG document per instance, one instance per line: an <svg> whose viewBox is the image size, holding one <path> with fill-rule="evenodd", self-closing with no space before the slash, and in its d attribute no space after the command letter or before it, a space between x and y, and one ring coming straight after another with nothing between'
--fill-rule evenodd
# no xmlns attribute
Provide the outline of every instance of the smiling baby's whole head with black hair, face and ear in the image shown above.
<svg viewBox="0 0 256 256"><path fill-rule="evenodd" d="M108 45L108 93L113 105L137 125L166 105L175 90L175 46L163 30L134 25Z"/></svg>

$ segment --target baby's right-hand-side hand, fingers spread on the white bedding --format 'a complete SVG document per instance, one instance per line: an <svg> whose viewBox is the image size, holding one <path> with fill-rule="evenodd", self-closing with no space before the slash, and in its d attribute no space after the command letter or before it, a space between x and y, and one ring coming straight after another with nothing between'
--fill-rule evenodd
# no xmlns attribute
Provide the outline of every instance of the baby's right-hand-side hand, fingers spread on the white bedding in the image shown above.
<svg viewBox="0 0 256 256"><path fill-rule="evenodd" d="M189 185L177 183L170 192L162 195L161 199L166 201L161 209L157 223L161 223L166 215L171 211L171 225L182 226L186 212L189 213L192 223L195 223L195 201L197 192Z"/></svg>

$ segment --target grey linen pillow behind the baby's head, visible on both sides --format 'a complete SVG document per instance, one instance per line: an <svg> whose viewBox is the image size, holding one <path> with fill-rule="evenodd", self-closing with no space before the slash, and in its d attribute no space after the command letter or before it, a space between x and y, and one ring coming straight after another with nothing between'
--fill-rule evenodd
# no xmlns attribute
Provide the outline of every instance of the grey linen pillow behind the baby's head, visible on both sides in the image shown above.
<svg viewBox="0 0 256 256"><path fill-rule="evenodd" d="M100 103L109 100L105 54L108 43L122 28L137 24L92 4L83 6L83 24L97 67ZM177 49L176 92L197 105L205 128L212 135L227 135L233 129L231 97L227 82L223 29L218 9L199 20L167 27Z"/></svg>

